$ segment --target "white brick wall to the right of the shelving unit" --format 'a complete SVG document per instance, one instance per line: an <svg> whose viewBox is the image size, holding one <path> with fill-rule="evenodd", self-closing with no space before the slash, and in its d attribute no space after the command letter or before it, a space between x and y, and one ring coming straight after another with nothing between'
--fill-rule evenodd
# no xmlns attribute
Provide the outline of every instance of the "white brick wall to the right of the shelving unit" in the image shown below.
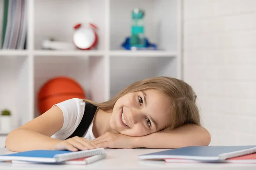
<svg viewBox="0 0 256 170"><path fill-rule="evenodd" d="M210 145L256 144L256 0L184 0L184 79Z"/></svg>

